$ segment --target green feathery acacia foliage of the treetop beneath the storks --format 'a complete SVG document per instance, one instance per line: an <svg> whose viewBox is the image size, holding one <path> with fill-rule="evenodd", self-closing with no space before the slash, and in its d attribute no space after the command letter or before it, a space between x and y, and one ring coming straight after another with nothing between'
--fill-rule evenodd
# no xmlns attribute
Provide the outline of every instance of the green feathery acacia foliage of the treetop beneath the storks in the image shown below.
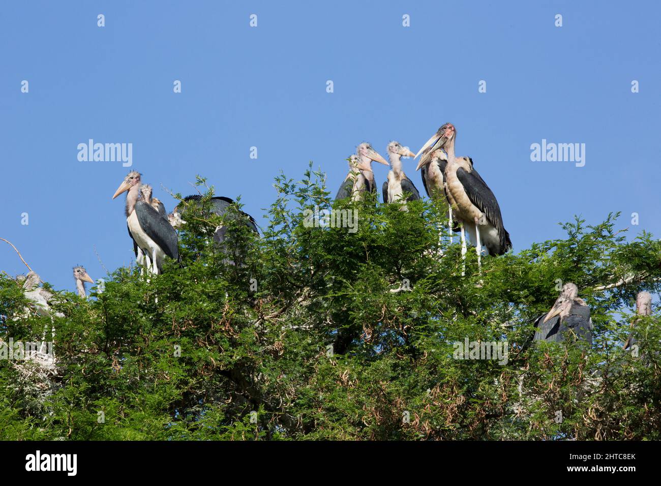
<svg viewBox="0 0 661 486"><path fill-rule="evenodd" d="M118 268L89 300L61 294L48 383L25 372L36 363L0 361L0 437L661 438L659 315L631 311L637 292L658 291L652 235L627 243L617 215L576 218L566 238L485 257L481 273L469 251L462 276L441 203L332 202L311 169L274 186L263 235L238 210L209 214L211 188L186 213L181 267L149 281ZM357 231L306 227L315 206L356 210ZM219 223L226 253L211 243ZM559 282L592 309L592 346L530 343ZM25 305L0 277L4 341L50 325ZM639 357L622 348L632 322ZM453 358L465 338L507 341L508 362Z"/></svg>

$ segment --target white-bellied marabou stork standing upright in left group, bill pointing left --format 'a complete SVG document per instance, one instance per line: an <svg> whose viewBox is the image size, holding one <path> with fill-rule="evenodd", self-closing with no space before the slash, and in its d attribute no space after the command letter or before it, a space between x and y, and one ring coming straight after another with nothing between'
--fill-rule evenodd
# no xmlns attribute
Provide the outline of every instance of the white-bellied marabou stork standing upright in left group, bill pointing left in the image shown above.
<svg viewBox="0 0 661 486"><path fill-rule="evenodd" d="M134 241L136 257L137 249L141 249L151 262L148 269L155 274L161 273L163 257L167 255L173 260L179 260L177 236L175 229L148 202L140 198L140 174L131 171L115 191L112 198L122 192L126 194L126 224ZM137 258L136 258L137 261Z"/></svg>

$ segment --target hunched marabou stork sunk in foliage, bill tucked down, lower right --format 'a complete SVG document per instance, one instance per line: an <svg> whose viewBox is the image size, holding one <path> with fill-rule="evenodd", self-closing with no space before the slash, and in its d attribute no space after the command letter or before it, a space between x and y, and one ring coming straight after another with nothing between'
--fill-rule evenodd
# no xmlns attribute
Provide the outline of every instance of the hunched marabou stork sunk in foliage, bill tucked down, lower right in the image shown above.
<svg viewBox="0 0 661 486"><path fill-rule="evenodd" d="M578 287L570 282L563 285L551 310L537 317L535 327L533 341L561 343L571 331L576 339L592 344L590 307L578 297Z"/></svg>

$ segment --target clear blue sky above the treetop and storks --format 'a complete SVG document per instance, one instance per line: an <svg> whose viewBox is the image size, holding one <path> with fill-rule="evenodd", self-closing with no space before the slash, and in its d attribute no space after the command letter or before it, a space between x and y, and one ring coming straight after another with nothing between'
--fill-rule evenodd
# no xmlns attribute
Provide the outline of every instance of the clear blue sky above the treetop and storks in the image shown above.
<svg viewBox="0 0 661 486"><path fill-rule="evenodd" d="M168 210L161 184L190 194L200 174L263 224L280 169L299 178L312 160L334 193L358 143L417 151L448 121L515 251L574 214L621 211L632 237L660 235L660 17L614 1L3 2L0 237L56 288L73 290L75 264L104 277L95 249L110 270L132 261L124 198L110 199L128 169L78 161L90 138L133 143ZM586 165L531 161L542 139L585 143ZM377 184L386 173L375 164ZM3 242L0 270L26 271Z"/></svg>

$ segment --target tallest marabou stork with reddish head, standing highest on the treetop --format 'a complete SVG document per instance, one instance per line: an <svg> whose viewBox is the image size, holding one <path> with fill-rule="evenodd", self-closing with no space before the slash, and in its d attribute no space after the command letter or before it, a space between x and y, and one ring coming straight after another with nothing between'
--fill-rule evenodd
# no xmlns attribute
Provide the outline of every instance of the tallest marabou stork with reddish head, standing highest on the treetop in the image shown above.
<svg viewBox="0 0 661 486"><path fill-rule="evenodd" d="M512 241L503 225L496 196L473 167L473 159L455 156L456 136L455 127L446 123L423 145L418 155L426 149L435 151L438 148L447 153L444 171L447 198L453 216L463 223L462 254L465 253L463 225L466 225L469 235L475 241L477 261L480 264L483 247L486 247L487 254L503 255L512 248Z"/></svg>

